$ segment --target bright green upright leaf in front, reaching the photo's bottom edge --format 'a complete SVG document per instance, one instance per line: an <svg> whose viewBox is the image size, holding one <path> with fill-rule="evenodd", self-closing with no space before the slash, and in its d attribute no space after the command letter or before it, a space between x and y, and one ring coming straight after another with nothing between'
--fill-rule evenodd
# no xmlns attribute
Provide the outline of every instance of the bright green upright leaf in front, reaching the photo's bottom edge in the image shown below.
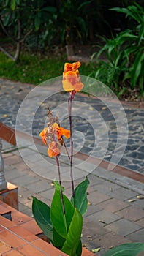
<svg viewBox="0 0 144 256"><path fill-rule="evenodd" d="M80 236L83 227L83 217L77 208L75 208L75 213L72 218L72 222L69 226L69 232L67 235L67 240L64 246L61 248L62 252L67 253L69 256L77 256L77 248L80 246Z"/></svg>

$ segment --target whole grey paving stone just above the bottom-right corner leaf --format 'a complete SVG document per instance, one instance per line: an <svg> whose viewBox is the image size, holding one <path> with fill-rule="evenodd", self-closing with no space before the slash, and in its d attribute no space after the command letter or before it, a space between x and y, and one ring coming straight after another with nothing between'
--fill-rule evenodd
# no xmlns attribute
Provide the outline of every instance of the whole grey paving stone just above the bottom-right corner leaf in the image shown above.
<svg viewBox="0 0 144 256"><path fill-rule="evenodd" d="M120 236L128 236L131 233L140 230L140 226L130 222L127 219L118 219L107 225L107 229L117 233Z"/></svg>

